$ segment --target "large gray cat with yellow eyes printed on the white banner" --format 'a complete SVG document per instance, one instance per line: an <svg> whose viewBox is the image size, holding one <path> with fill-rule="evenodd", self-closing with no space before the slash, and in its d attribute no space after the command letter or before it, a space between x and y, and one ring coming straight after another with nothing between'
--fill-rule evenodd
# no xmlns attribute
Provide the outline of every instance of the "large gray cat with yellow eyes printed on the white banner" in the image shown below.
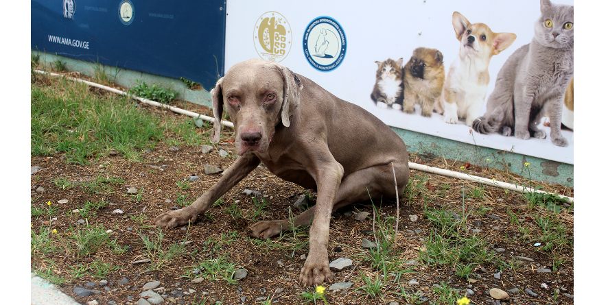
<svg viewBox="0 0 608 305"><path fill-rule="evenodd" d="M541 117L550 119L551 141L566 146L561 135L561 110L565 89L574 74L574 6L541 0L541 17L534 38L504 63L488 98L487 111L473 121L473 130L498 132L528 139L546 138L537 127Z"/></svg>

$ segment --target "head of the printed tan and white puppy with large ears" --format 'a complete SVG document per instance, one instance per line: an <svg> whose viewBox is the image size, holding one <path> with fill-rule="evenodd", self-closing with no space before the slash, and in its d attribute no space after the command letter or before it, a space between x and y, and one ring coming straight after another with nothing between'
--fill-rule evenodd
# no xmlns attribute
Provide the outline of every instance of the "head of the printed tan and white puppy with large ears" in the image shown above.
<svg viewBox="0 0 608 305"><path fill-rule="evenodd" d="M494 33L484 23L471 24L459 12L452 14L452 25L456 39L460 41L460 58L478 57L489 62L517 38L513 33Z"/></svg>

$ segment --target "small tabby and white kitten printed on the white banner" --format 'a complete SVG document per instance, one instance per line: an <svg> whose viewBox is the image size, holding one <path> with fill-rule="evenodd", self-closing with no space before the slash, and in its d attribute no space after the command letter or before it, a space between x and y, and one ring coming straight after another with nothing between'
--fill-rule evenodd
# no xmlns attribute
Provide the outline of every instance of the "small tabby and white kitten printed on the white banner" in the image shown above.
<svg viewBox="0 0 608 305"><path fill-rule="evenodd" d="M376 84L371 99L380 108L401 110L404 107L403 58L395 61L390 58L376 62Z"/></svg>

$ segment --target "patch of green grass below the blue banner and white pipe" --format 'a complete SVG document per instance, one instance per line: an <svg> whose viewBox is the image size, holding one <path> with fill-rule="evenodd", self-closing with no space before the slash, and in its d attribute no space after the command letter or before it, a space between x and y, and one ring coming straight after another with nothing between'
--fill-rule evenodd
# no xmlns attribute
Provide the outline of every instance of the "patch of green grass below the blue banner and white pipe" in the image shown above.
<svg viewBox="0 0 608 305"><path fill-rule="evenodd" d="M115 150L128 160L159 141L198 145L207 136L190 119L165 116L136 107L128 97L91 93L84 84L50 79L32 84L31 154L65 154L67 162L88 164Z"/></svg>

